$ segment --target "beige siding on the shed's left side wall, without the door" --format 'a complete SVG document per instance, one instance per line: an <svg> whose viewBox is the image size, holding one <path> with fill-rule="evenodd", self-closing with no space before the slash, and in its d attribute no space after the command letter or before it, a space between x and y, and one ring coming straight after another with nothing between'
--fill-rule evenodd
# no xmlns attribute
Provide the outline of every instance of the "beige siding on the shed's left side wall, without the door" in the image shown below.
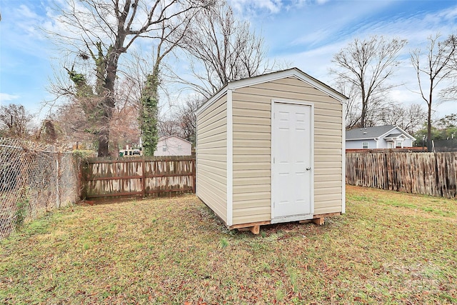
<svg viewBox="0 0 457 305"><path fill-rule="evenodd" d="M227 222L227 97L197 118L197 196Z"/></svg>

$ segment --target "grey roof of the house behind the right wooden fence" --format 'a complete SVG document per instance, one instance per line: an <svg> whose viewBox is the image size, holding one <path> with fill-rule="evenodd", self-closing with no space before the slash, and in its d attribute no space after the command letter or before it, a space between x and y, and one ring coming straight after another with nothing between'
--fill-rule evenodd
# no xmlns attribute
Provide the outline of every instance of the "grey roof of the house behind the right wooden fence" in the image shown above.
<svg viewBox="0 0 457 305"><path fill-rule="evenodd" d="M403 129L398 126L384 125L348 130L346 131L346 141L379 139L381 137L395 138L401 134L410 139L416 140L413 136L411 136L411 134L403 131Z"/></svg>

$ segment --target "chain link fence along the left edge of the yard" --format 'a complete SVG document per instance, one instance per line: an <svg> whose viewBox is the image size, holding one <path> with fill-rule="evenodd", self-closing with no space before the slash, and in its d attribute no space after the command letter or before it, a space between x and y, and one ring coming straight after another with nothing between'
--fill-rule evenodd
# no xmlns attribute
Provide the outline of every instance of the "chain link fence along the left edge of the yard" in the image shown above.
<svg viewBox="0 0 457 305"><path fill-rule="evenodd" d="M26 220L74 203L78 166L56 146L0 138L0 239Z"/></svg>

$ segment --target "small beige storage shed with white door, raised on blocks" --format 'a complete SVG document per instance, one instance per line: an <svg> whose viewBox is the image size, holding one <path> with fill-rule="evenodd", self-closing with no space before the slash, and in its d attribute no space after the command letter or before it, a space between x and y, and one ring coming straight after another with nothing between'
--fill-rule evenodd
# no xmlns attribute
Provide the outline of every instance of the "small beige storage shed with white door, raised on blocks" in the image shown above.
<svg viewBox="0 0 457 305"><path fill-rule="evenodd" d="M227 84L197 111L196 195L254 234L344 213L346 101L297 68Z"/></svg>

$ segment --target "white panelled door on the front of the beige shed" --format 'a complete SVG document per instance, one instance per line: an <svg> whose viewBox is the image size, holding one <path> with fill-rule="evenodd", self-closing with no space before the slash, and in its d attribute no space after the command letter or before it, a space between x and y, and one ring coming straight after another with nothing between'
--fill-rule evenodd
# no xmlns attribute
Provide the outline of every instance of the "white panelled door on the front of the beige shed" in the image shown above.
<svg viewBox="0 0 457 305"><path fill-rule="evenodd" d="M311 106L274 104L272 219L311 214Z"/></svg>

